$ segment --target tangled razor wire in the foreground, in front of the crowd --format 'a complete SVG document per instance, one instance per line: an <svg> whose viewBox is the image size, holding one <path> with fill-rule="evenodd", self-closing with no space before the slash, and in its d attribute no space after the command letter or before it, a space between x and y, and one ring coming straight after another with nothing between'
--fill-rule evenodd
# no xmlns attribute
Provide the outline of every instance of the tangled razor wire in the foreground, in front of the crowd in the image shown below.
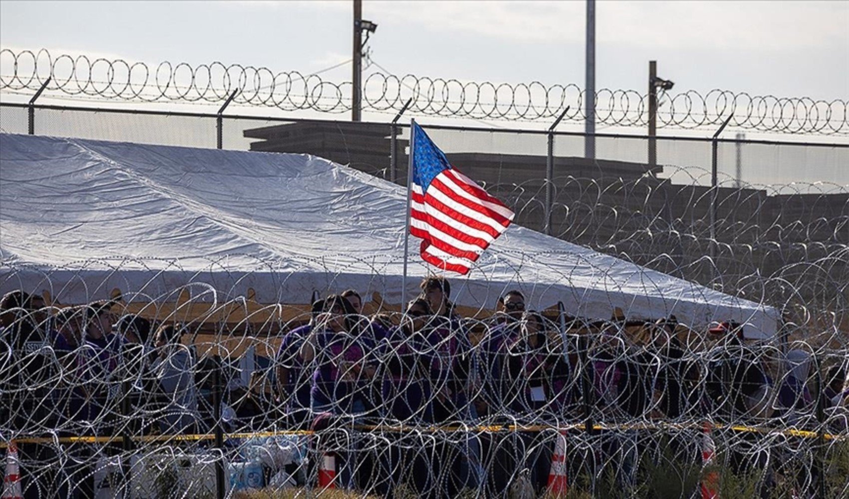
<svg viewBox="0 0 849 499"><path fill-rule="evenodd" d="M845 378L822 413L810 394L820 370L846 363L845 340L799 340L785 355L668 321L559 328L556 317L459 319L416 305L346 315L338 295L312 317L245 334L245 323L207 329L177 312L144 324L127 313L132 300L24 300L3 311L14 320L0 345L3 439L16 443L28 494L214 496L221 465L237 496L331 484L352 496L536 496L560 458L571 486L597 495L689 497L709 483L815 496L821 474L830 496L849 487ZM495 346L498 330L513 335ZM310 342L323 350L306 361ZM252 372L251 349L267 360Z"/></svg>

